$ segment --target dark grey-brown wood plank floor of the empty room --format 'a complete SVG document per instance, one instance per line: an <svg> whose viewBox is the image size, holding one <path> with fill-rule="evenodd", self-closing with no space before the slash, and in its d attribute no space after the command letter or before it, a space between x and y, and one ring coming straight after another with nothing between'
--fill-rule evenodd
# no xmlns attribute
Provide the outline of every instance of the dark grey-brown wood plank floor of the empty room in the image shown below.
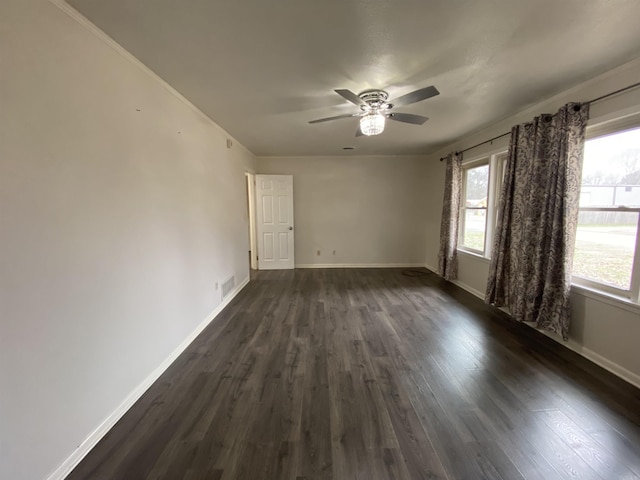
<svg viewBox="0 0 640 480"><path fill-rule="evenodd" d="M258 272L68 478L640 478L638 389L417 272Z"/></svg>

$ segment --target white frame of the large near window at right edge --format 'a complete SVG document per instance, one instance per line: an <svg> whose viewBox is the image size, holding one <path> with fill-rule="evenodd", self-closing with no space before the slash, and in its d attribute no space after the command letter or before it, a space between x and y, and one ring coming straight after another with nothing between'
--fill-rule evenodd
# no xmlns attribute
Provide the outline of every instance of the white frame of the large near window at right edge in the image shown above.
<svg viewBox="0 0 640 480"><path fill-rule="evenodd" d="M640 112L626 115L614 120L602 121L587 126L585 135L585 145L589 140L595 140L597 138L606 137L609 135L615 135L624 133L628 130L635 130L640 128ZM582 188L582 179L580 181L580 187ZM578 275L571 275L571 284L577 287L587 288L593 290L596 293L605 294L607 296L617 297L633 303L638 303L640 300L640 207L581 207L581 212L631 212L637 213L638 219L636 222L636 242L635 250L633 254L633 262L631 265L631 279L629 282L629 289L618 288L607 283L598 282ZM575 251L575 245L574 245Z"/></svg>

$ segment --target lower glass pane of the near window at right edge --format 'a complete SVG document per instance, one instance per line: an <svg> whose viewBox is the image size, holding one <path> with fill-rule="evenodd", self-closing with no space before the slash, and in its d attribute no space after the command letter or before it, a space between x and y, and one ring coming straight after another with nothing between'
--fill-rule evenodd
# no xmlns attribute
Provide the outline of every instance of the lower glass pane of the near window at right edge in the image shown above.
<svg viewBox="0 0 640 480"><path fill-rule="evenodd" d="M635 212L580 212L573 274L629 290L637 224Z"/></svg>

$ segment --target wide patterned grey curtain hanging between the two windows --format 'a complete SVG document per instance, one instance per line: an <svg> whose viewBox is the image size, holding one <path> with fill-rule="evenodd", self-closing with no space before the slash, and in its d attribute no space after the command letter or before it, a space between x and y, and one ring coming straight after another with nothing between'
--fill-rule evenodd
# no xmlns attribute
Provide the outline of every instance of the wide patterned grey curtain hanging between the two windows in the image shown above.
<svg viewBox="0 0 640 480"><path fill-rule="evenodd" d="M568 339L588 104L511 131L485 301Z"/></svg>

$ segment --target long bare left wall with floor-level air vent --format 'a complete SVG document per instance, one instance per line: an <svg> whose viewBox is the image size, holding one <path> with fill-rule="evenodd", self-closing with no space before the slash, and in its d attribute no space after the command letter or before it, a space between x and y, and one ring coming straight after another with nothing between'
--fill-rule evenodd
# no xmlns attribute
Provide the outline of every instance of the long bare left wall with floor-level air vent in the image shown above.
<svg viewBox="0 0 640 480"><path fill-rule="evenodd" d="M248 278L255 159L53 3L0 3L0 60L0 478L34 480Z"/></svg>

